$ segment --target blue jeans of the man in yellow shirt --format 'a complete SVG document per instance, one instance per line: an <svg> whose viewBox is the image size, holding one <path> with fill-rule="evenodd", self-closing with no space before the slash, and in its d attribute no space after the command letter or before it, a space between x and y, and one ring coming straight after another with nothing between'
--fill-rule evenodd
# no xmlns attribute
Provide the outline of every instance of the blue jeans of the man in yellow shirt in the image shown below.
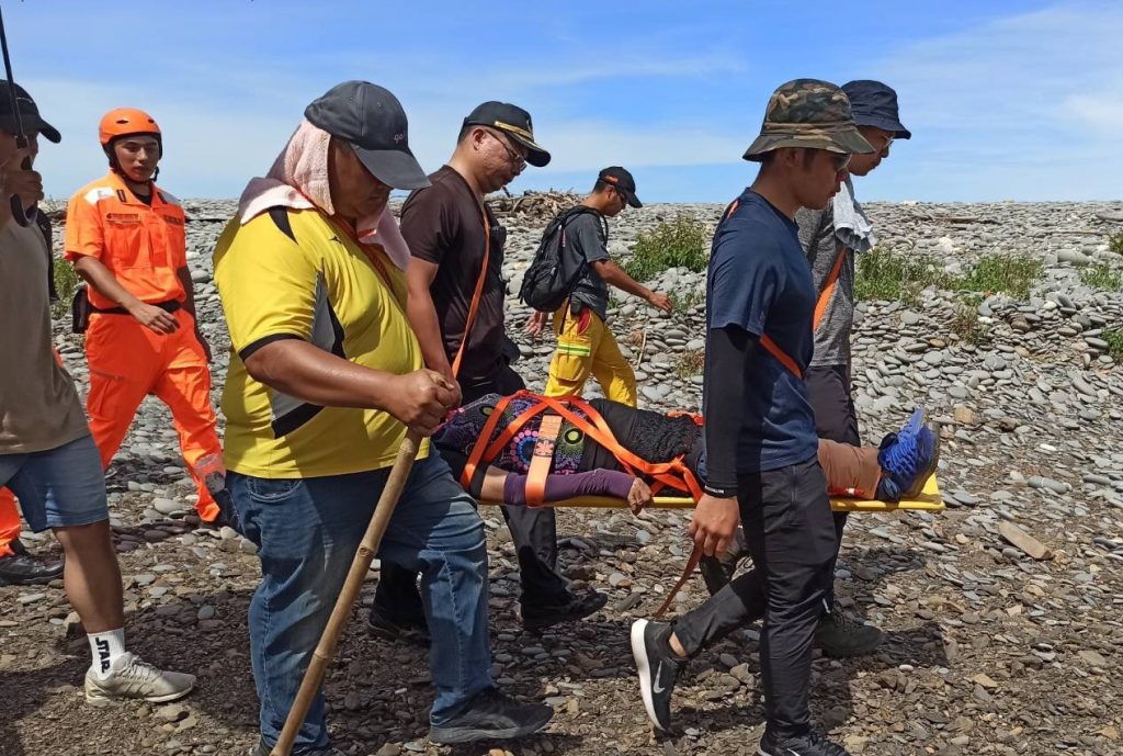
<svg viewBox="0 0 1123 756"><path fill-rule="evenodd" d="M246 537L257 544L262 582L249 603L249 649L261 700L262 740L273 747L336 596L366 531L389 468L328 477L227 476ZM421 573L437 698L430 721L490 686L487 550L475 502L436 452L419 459L378 556ZM387 676L387 684L389 676ZM318 694L293 747L328 745Z"/></svg>

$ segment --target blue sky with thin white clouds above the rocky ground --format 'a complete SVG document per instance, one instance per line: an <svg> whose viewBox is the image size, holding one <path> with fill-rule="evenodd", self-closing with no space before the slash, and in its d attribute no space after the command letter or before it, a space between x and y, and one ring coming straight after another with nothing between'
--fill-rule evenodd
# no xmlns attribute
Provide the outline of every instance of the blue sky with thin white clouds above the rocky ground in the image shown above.
<svg viewBox="0 0 1123 756"><path fill-rule="evenodd" d="M236 197L304 106L346 79L391 89L427 170L484 100L533 116L546 168L511 185L585 190L629 167L647 201L723 202L772 90L880 79L914 134L867 200L1120 199L1123 2L4 2L16 80L63 131L38 167L64 198L104 170L117 106L165 133L162 184Z"/></svg>

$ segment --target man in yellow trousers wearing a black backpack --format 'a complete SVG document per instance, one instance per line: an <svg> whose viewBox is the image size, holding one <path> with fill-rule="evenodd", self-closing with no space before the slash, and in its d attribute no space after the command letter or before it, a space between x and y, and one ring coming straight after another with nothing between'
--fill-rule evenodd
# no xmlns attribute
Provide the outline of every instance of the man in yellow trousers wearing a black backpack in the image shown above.
<svg viewBox="0 0 1123 756"><path fill-rule="evenodd" d="M601 171L593 191L576 208L567 210L556 234L559 257L577 261L578 276L568 298L554 313L558 345L546 379L547 397L581 395L590 374L596 376L605 398L636 407L636 374L620 354L609 330L609 284L642 298L651 307L670 312L670 299L632 280L609 256L609 224L626 207L641 208L636 180L613 165ZM546 248L547 240L542 240ZM537 262L537 261L536 261ZM523 290L526 294L526 289ZM533 303L531 303L533 306ZM541 331L546 312L537 312L527 326L531 335Z"/></svg>

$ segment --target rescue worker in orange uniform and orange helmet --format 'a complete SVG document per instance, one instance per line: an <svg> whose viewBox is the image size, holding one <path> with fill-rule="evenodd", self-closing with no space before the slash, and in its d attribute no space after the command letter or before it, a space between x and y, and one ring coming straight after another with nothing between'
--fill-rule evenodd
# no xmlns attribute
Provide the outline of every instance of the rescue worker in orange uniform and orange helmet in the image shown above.
<svg viewBox="0 0 1123 756"><path fill-rule="evenodd" d="M158 397L172 411L199 514L214 522L219 508L206 481L225 470L210 347L195 322L183 208L154 181L159 126L141 110L118 108L98 131L110 170L71 198L65 234L66 259L89 284L90 430L108 467L140 401Z"/></svg>

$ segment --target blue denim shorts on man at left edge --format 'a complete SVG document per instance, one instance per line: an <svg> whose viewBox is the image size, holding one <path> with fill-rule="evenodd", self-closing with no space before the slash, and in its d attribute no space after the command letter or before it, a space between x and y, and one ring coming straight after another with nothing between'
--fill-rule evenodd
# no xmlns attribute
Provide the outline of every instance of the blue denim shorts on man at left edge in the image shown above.
<svg viewBox="0 0 1123 756"><path fill-rule="evenodd" d="M46 452L0 454L0 485L16 494L36 532L109 519L101 456L89 434Z"/></svg>

